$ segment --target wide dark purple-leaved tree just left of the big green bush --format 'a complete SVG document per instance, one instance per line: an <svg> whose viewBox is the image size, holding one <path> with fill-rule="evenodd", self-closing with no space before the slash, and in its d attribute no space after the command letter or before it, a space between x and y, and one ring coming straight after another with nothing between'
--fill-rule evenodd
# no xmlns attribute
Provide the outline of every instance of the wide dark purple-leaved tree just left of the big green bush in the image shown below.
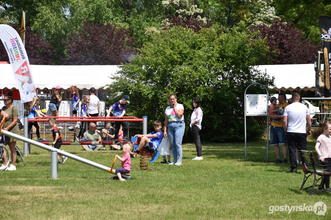
<svg viewBox="0 0 331 220"><path fill-rule="evenodd" d="M69 65L120 65L130 61L136 51L127 28L115 24L84 22L80 31L67 36L67 56L63 61Z"/></svg>

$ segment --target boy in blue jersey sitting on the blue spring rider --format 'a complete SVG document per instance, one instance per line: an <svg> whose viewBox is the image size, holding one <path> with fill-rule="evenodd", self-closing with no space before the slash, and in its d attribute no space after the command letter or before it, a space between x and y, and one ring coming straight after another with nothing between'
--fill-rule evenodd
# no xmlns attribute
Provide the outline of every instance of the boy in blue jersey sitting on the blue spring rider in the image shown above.
<svg viewBox="0 0 331 220"><path fill-rule="evenodd" d="M140 138L139 146L133 153L139 154L141 149L156 152L163 138L163 131L161 131L161 121L154 122L154 130L148 135L137 135Z"/></svg>

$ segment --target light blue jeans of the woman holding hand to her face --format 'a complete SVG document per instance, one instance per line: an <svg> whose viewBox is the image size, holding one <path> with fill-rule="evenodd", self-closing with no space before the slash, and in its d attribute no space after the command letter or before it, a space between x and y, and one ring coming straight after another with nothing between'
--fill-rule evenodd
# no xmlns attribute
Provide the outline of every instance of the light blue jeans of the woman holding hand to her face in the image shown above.
<svg viewBox="0 0 331 220"><path fill-rule="evenodd" d="M168 122L168 135L170 138L173 159L182 161L182 140L185 131L185 123Z"/></svg>

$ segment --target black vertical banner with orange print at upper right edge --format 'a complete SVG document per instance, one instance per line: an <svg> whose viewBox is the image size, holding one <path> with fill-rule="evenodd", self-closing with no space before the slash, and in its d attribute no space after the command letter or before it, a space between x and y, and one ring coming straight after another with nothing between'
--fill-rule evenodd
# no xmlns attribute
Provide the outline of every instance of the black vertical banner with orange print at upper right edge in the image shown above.
<svg viewBox="0 0 331 220"><path fill-rule="evenodd" d="M330 64L331 64L331 17L318 16L321 32L322 52L324 57L324 97L331 97Z"/></svg>

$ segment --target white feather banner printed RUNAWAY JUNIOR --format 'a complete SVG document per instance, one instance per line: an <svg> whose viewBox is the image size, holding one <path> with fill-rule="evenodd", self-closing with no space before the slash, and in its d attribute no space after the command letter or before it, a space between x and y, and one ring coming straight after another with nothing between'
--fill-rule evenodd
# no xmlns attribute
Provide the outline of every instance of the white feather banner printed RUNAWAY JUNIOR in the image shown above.
<svg viewBox="0 0 331 220"><path fill-rule="evenodd" d="M30 102L36 96L36 89L21 37L11 26L0 24L0 39L8 53L17 88L20 91L21 102Z"/></svg>

